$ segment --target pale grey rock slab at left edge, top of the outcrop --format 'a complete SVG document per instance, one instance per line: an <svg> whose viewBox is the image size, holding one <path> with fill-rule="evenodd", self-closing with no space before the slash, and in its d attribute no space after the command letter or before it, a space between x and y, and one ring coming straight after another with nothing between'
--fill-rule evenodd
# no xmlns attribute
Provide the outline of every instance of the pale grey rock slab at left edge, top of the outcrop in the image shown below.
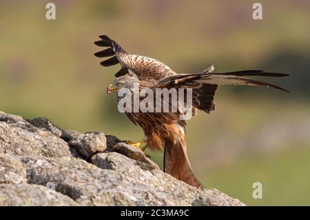
<svg viewBox="0 0 310 220"><path fill-rule="evenodd" d="M67 142L48 130L32 126L21 117L0 112L0 153L40 154L45 157L72 157Z"/></svg>

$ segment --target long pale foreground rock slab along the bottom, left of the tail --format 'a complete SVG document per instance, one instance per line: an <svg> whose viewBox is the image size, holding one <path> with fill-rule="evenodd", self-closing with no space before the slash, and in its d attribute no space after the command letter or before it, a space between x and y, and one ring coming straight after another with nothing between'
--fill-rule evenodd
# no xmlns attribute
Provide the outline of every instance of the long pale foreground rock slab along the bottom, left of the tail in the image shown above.
<svg viewBox="0 0 310 220"><path fill-rule="evenodd" d="M23 157L23 163L27 167L28 183L43 186L53 183L57 192L83 206L186 205L171 194L157 192L139 181L132 182L115 170L101 169L82 159L27 156ZM162 201L163 198L169 201Z"/></svg>

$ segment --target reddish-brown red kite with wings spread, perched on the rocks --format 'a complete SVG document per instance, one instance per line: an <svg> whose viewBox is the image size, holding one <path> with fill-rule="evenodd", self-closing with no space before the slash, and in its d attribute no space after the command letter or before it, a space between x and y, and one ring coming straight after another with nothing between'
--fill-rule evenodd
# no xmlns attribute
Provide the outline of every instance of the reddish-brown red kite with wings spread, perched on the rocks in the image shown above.
<svg viewBox="0 0 310 220"><path fill-rule="evenodd" d="M215 110L214 94L220 85L265 86L288 92L279 86L256 81L244 76L286 77L288 74L264 72L262 70L242 70L236 72L211 73L211 66L201 74L177 74L160 61L139 55L128 54L121 46L109 37L103 35L95 44L107 49L96 52L96 57L111 57L101 62L103 66L121 64L113 83L107 88L107 93L118 91L121 88L134 92L141 92L149 88L156 93L156 88L191 88L192 105L194 109L209 113ZM129 76L125 76L129 74ZM134 83L139 83L139 90L134 91ZM154 95L156 97L156 95ZM119 97L116 98L119 101ZM186 102L186 101L185 101ZM171 100L169 100L171 105ZM171 108L169 108L171 109ZM184 112L125 112L127 117L143 129L145 138L138 143L131 143L139 147L146 143L151 150L164 150L163 170L176 179L185 181L189 185L203 188L195 177L186 153L185 126L186 121L180 119Z"/></svg>

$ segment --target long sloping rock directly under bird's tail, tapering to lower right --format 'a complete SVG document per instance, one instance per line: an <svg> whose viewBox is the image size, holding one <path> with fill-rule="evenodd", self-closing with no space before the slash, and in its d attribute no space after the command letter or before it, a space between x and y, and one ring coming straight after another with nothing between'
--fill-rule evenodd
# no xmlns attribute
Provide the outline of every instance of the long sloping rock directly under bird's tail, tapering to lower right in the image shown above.
<svg viewBox="0 0 310 220"><path fill-rule="evenodd" d="M174 179L158 167L154 169L147 163L130 159L116 152L96 154L92 157L92 163L103 169L116 170L125 175L130 182L143 185L149 188L149 191L170 194L185 202L183 205L186 206L240 206L242 204L238 199L232 199L223 192L215 189L199 190Z"/></svg>

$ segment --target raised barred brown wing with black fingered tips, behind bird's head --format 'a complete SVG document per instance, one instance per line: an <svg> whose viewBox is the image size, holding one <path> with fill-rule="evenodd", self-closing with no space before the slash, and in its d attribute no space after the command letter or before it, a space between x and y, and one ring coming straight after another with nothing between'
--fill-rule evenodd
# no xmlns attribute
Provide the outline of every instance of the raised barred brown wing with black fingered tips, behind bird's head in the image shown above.
<svg viewBox="0 0 310 220"><path fill-rule="evenodd" d="M156 59L128 54L116 41L110 39L110 37L106 35L102 35L100 38L100 41L94 43L96 46L107 47L107 49L96 52L94 55L100 58L113 56L110 59L101 61L102 66L121 64L121 70L115 74L115 77L121 77L128 73L131 76L135 74L138 79L143 81L157 81L176 74L169 66Z"/></svg>

